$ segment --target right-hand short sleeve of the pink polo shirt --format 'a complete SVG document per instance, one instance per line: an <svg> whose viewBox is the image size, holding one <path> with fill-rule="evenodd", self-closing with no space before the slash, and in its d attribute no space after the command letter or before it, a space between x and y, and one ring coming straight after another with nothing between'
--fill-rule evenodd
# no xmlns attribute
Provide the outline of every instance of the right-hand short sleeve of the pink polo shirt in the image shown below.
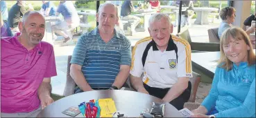
<svg viewBox="0 0 256 118"><path fill-rule="evenodd" d="M53 46L51 46L49 53L50 53L49 61L47 63L47 68L46 68L46 72L44 73L44 77L53 77L57 75Z"/></svg>

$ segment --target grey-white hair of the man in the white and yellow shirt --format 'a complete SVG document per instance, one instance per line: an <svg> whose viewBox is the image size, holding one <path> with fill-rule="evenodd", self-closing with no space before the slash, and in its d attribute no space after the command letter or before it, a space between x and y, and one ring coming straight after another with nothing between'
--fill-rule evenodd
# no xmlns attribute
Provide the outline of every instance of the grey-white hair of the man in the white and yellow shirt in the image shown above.
<svg viewBox="0 0 256 118"><path fill-rule="evenodd" d="M151 23L153 21L159 21L160 19L165 18L167 19L167 21L169 22L169 25L171 25L171 18L169 17L168 14L164 14L164 13L155 13L152 14L151 17L148 20L148 27L151 26Z"/></svg>

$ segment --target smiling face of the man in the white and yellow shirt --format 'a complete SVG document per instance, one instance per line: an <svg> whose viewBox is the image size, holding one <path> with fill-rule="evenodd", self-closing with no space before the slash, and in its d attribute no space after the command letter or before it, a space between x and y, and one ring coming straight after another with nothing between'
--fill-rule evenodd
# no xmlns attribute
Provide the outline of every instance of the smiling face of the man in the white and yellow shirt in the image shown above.
<svg viewBox="0 0 256 118"><path fill-rule="evenodd" d="M172 32L172 25L169 24L168 19L162 18L153 21L148 28L148 32L158 48L166 49Z"/></svg>

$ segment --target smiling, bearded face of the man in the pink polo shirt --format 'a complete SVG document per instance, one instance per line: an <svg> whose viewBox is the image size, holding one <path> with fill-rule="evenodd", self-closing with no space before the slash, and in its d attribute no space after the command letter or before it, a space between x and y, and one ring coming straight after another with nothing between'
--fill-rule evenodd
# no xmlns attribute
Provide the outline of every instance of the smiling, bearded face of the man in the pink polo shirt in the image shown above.
<svg viewBox="0 0 256 118"><path fill-rule="evenodd" d="M24 23L19 23L19 30L22 31L22 37L26 38L29 44L40 43L44 37L44 17L39 13L29 14Z"/></svg>

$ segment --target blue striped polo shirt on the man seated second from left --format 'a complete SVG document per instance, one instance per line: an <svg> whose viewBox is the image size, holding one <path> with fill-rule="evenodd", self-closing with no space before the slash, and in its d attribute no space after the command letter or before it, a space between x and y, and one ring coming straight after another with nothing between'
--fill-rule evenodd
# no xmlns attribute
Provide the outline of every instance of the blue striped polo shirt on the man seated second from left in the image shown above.
<svg viewBox="0 0 256 118"><path fill-rule="evenodd" d="M120 65L130 66L130 53L130 41L125 36L114 30L114 37L105 43L95 28L78 39L70 63L82 66L92 88L110 88Z"/></svg>

